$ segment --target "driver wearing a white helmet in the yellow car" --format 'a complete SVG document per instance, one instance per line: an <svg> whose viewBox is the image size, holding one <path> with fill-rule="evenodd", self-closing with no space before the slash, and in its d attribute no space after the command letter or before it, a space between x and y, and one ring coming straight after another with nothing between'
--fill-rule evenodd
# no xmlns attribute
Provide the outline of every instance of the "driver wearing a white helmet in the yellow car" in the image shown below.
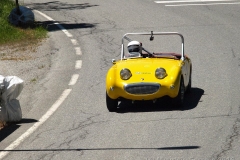
<svg viewBox="0 0 240 160"><path fill-rule="evenodd" d="M142 56L142 43L138 41L131 41L128 43L129 57L141 57Z"/></svg>

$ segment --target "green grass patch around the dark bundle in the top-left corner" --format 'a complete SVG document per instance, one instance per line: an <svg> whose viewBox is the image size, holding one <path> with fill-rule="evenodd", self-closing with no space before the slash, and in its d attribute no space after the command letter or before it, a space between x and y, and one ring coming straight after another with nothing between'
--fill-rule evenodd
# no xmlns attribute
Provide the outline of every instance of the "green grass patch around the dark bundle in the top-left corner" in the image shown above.
<svg viewBox="0 0 240 160"><path fill-rule="evenodd" d="M8 16L16 7L15 0L0 0L0 45L34 41L47 36L47 30L42 26L20 28L8 22Z"/></svg>

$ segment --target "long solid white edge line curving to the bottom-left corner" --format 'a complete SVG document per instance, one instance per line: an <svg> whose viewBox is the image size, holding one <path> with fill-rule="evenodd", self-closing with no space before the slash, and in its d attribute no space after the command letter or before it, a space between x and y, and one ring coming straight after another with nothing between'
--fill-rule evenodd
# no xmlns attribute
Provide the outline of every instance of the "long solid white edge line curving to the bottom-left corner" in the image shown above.
<svg viewBox="0 0 240 160"><path fill-rule="evenodd" d="M66 89L63 91L62 95L58 100L52 105L52 107L36 122L32 127L30 127L24 134L22 134L18 139L11 143L4 152L0 152L0 159L5 157L10 150L13 150L18 145L20 145L29 135L31 135L40 125L47 121L47 119L58 109L58 107L63 103L63 101L68 97L72 89Z"/></svg>

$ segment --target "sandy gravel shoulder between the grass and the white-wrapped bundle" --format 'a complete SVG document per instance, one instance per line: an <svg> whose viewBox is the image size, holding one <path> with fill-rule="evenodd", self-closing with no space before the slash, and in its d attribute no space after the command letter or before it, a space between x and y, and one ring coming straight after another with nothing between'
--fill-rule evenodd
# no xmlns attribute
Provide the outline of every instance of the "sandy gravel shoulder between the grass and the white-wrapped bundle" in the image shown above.
<svg viewBox="0 0 240 160"><path fill-rule="evenodd" d="M38 82L51 68L52 47L50 38L37 42L21 42L0 46L0 75L17 76L24 81L24 88L17 98L23 116L31 108L28 103L38 89ZM6 123L0 122L0 129Z"/></svg>

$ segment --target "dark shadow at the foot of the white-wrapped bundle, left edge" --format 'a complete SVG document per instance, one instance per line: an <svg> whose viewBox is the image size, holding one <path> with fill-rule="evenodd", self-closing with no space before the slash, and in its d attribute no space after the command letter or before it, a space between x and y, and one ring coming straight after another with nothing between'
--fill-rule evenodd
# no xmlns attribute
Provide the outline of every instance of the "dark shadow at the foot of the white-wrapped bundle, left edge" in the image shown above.
<svg viewBox="0 0 240 160"><path fill-rule="evenodd" d="M11 123L7 127L0 130L0 142L3 141L5 138L7 138L10 134L12 134L14 131L16 131L23 123L35 123L37 120L35 119L22 119L20 122L17 123Z"/></svg>

